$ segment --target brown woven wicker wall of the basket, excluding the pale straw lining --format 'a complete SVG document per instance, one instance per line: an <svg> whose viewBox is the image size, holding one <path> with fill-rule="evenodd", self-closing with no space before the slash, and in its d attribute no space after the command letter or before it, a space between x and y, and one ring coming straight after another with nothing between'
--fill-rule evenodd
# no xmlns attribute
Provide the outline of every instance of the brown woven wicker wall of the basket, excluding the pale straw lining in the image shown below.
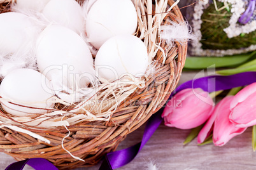
<svg viewBox="0 0 256 170"><path fill-rule="evenodd" d="M171 6L173 0L169 0ZM8 3L1 4L1 13L8 11ZM146 16L145 16L146 17ZM184 22L183 16L174 6L165 20ZM166 24L169 24L166 22ZM145 88L138 88L130 95L111 116L110 121L80 122L69 126L70 135L64 140L64 147L71 154L85 160L76 160L62 148L62 139L68 134L66 128L36 129L24 128L39 134L51 141L50 144L33 138L25 133L13 131L10 128L0 129L0 151L11 155L16 160L42 157L50 160L59 169L93 166L108 152L115 150L125 136L141 126L148 118L157 112L169 98L176 87L187 55L187 43L174 42L174 46L162 43L162 49L167 54L163 64L160 51L155 56L159 67L153 75L146 79ZM1 111L0 116L4 112Z"/></svg>

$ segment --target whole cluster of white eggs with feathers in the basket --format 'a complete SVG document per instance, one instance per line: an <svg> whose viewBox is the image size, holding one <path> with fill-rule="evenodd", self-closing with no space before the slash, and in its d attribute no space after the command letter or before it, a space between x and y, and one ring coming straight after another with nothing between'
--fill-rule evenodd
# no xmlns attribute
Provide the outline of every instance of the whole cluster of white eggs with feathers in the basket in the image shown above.
<svg viewBox="0 0 256 170"><path fill-rule="evenodd" d="M97 78L111 82L127 74L145 74L148 54L143 41L133 36L138 16L132 1L89 0L84 6L75 0L17 0L16 12L0 14L0 58L8 60L0 85L6 112L43 114L53 108L52 96L79 101L80 95L71 95ZM88 44L98 49L95 61ZM38 70L24 63L31 51Z"/></svg>

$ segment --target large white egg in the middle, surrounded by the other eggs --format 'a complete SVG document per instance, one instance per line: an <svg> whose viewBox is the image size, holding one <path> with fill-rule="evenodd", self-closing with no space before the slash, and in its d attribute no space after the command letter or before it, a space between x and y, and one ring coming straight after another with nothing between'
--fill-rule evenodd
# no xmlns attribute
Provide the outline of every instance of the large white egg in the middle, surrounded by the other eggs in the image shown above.
<svg viewBox="0 0 256 170"><path fill-rule="evenodd" d="M90 50L73 30L50 25L36 43L38 68L52 83L55 93L75 93L94 81Z"/></svg>

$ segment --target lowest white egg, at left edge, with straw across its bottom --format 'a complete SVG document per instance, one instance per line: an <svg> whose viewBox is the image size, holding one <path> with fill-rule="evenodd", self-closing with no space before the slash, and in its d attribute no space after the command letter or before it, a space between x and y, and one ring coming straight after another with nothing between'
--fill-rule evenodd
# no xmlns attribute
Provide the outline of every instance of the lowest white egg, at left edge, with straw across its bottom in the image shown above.
<svg viewBox="0 0 256 170"><path fill-rule="evenodd" d="M45 108L53 107L50 99L53 93L48 86L48 79L36 70L14 70L6 75L1 82L0 96L6 100L2 101L1 105L6 112L17 116L46 113L47 110ZM26 107L21 107L8 101Z"/></svg>

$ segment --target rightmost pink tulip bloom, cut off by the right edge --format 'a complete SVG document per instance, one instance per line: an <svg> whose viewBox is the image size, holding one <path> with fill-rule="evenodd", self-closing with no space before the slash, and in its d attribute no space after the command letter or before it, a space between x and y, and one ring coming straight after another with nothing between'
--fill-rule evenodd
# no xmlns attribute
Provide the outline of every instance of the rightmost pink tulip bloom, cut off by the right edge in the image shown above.
<svg viewBox="0 0 256 170"><path fill-rule="evenodd" d="M229 119L236 127L256 124L256 82L243 88L231 101Z"/></svg>

